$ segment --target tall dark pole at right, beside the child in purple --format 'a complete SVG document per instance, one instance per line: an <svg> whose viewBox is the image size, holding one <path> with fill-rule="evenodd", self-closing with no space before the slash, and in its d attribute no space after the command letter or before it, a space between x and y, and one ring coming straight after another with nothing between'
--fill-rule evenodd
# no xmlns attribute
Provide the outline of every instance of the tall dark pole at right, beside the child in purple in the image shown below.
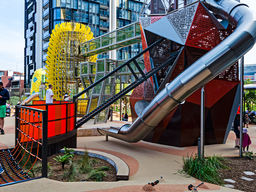
<svg viewBox="0 0 256 192"><path fill-rule="evenodd" d="M241 58L240 70L240 140L239 157L243 155L243 97L244 97L244 56Z"/></svg>

